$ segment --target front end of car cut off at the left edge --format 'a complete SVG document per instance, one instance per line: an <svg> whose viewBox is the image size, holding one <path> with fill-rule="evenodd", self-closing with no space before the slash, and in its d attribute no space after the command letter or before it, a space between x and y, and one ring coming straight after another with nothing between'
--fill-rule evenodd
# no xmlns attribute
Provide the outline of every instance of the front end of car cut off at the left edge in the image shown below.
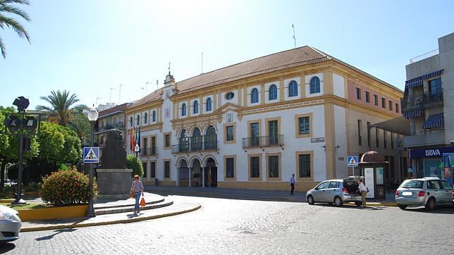
<svg viewBox="0 0 454 255"><path fill-rule="evenodd" d="M22 221L18 211L0 205L0 242L17 240L20 236Z"/></svg>

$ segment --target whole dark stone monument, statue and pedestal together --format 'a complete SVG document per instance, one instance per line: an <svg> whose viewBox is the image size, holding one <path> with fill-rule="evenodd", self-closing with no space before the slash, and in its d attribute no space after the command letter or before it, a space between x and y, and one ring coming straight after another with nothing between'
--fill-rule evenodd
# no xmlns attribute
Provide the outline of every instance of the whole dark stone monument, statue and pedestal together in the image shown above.
<svg viewBox="0 0 454 255"><path fill-rule="evenodd" d="M97 169L100 199L127 199L131 188L132 169L126 169L126 150L120 130L107 132L102 148L101 167Z"/></svg>

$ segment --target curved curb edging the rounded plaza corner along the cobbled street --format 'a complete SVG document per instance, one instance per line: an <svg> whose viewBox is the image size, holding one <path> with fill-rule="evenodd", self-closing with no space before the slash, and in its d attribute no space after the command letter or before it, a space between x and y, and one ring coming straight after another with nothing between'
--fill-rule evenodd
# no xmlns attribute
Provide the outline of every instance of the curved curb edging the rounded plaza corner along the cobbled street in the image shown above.
<svg viewBox="0 0 454 255"><path fill-rule="evenodd" d="M51 225L51 226L46 226L46 227L36 227L36 228L23 228L20 230L20 232L32 232L32 231L42 231L42 230L59 230L62 228L85 228L85 227L91 227L91 226L97 226L97 225L111 225L111 224L118 224L118 223L132 223L132 222L137 222L137 221L142 221L142 220L153 220L156 218L164 218L168 216L176 216L178 214L183 214L183 213L190 213L191 211L196 211L200 209L202 206L198 205L195 206L191 209L188 210L183 210L183 211L176 211L173 213L164 213L164 214L159 214L159 215L154 215L154 216L145 216L145 217L140 217L140 218L130 218L130 219L125 219L125 220L112 220L112 221L105 221L105 222L99 222L99 223L82 223L82 224L71 224L71 225Z"/></svg>

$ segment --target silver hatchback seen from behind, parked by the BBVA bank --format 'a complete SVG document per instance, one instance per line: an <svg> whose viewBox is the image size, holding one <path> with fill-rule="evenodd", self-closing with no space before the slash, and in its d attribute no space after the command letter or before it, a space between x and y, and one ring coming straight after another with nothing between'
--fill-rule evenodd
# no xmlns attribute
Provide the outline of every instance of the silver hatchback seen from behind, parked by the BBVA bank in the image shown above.
<svg viewBox="0 0 454 255"><path fill-rule="evenodd" d="M433 210L435 206L453 204L453 187L436 177L404 180L395 190L395 202L400 209L425 206Z"/></svg>

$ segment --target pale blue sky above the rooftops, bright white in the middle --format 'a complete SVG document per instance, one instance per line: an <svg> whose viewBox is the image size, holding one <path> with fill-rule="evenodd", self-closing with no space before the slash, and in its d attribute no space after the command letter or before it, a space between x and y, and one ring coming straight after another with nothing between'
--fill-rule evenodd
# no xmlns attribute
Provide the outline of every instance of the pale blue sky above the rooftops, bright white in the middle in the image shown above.
<svg viewBox="0 0 454 255"><path fill-rule="evenodd" d="M69 90L125 103L176 81L310 45L403 89L410 58L454 32L454 1L30 0L29 44L0 30L0 106ZM203 52L203 68L202 68ZM159 84L157 85L157 80Z"/></svg>

